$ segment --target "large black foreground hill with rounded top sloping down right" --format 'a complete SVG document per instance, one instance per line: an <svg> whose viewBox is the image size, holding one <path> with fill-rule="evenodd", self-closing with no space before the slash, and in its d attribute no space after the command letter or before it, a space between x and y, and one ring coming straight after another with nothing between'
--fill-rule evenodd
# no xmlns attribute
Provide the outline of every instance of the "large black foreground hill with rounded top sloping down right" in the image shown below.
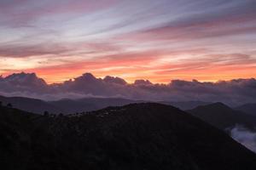
<svg viewBox="0 0 256 170"><path fill-rule="evenodd" d="M160 104L55 117L1 107L0 154L5 170L256 169L226 133Z"/></svg>

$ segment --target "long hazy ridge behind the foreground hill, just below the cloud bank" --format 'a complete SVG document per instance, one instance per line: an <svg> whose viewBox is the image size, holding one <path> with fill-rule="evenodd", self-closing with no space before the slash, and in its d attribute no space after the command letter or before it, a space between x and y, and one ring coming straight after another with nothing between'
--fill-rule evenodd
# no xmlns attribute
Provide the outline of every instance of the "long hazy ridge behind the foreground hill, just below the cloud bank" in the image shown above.
<svg viewBox="0 0 256 170"><path fill-rule="evenodd" d="M122 98L83 98L83 99L60 99L55 101L44 101L42 99L32 99L24 97L4 97L0 96L0 101L3 105L12 104L15 108L30 111L33 113L43 114L44 111L48 111L53 114L71 114L75 112L83 111L96 111L108 106L121 106L132 103L142 103L143 100L132 100ZM179 109L185 111L194 109L198 105L207 105L207 102L201 101L180 101L180 102L168 102L160 101L159 103L165 105L173 105Z"/></svg>

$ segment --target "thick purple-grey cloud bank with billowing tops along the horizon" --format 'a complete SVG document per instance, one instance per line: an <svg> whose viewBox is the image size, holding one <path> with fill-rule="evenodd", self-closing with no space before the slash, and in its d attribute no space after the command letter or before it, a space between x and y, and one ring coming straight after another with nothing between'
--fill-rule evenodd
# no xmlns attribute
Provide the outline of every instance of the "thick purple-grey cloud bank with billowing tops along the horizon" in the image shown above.
<svg viewBox="0 0 256 170"><path fill-rule="evenodd" d="M21 72L0 77L0 94L47 100L94 96L152 101L220 101L228 105L241 105L255 102L256 80L254 78L218 82L172 80L167 84L154 84L140 79L128 83L120 77L96 78L90 73L85 73L66 82L47 84L35 73Z"/></svg>

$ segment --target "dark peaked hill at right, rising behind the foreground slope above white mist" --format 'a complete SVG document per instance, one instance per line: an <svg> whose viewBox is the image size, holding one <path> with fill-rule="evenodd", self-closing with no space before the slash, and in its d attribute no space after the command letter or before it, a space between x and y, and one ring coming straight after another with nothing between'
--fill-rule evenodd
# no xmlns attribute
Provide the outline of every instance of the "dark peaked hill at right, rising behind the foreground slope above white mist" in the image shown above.
<svg viewBox="0 0 256 170"><path fill-rule="evenodd" d="M242 125L250 129L256 127L256 116L235 111L222 103L198 106L188 112L220 129L235 127L236 125Z"/></svg>

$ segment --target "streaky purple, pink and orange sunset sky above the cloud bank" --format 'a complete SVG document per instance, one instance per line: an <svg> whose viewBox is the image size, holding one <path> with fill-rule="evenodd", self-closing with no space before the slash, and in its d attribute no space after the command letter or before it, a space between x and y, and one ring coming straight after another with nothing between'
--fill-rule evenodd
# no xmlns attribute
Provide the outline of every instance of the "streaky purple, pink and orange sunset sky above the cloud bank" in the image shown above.
<svg viewBox="0 0 256 170"><path fill-rule="evenodd" d="M255 0L0 0L0 74L48 83L90 72L126 82L256 73Z"/></svg>

